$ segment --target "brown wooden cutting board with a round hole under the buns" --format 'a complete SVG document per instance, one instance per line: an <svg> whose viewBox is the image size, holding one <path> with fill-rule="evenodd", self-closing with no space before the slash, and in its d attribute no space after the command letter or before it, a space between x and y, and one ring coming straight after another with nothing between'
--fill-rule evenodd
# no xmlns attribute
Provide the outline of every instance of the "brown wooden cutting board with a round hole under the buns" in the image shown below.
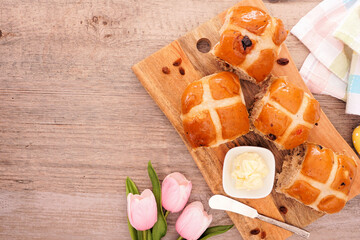
<svg viewBox="0 0 360 240"><path fill-rule="evenodd" d="M239 4L257 6L266 10L261 0L243 0ZM276 13L272 14L276 17ZM275 155L277 172L280 172L283 158L287 154L286 151L277 150L271 142L262 139L252 132L219 147L200 148L196 151L191 149L185 139L180 119L180 99L184 89L189 83L195 80L221 71L221 68L210 53L203 53L198 50L198 41L200 40L199 43L209 42L211 46L218 42L220 38L219 29L222 26L224 17L225 12L191 32L188 32L186 35L180 37L132 67L144 88L149 92L150 96L159 105L160 109L178 131L214 194L225 194L222 188L222 167L224 156L229 149L240 145L266 147ZM286 57L290 62L286 66L275 64L272 71L273 75L288 76L290 82L310 93L301 79L285 45L282 47L280 57ZM173 63L179 58L182 59L180 67L184 70L184 74L180 73L180 67L173 66ZM170 73L163 73L163 67L168 67ZM258 92L259 88L256 85L245 81L241 81L241 85L245 95L246 105L249 108L252 105L254 95ZM352 156L360 164L357 155L336 131L323 112L318 126L314 127L311 131L309 141L322 144L339 153L345 153ZM360 168L358 170L360 170ZM358 174L360 175L360 173ZM351 198L359 193L360 178L358 178L358 181L356 181L352 187ZM282 194L275 193L275 191L263 199L239 200L256 208L261 214L286 221L299 227L305 227L322 216L321 213L292 199L285 198ZM281 206L285 206L288 209L286 214L282 214L278 210ZM234 213L228 214L244 239L260 239L260 234L256 236L250 234L250 231L255 228L259 228L261 231L265 232L266 239L278 240L291 236L290 232L259 220L243 217Z"/></svg>

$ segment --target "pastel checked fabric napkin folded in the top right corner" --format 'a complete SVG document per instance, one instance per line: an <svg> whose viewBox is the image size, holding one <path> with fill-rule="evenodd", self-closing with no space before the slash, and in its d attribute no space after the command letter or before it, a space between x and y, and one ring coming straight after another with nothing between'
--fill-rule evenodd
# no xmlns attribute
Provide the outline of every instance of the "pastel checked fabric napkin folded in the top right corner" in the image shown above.
<svg viewBox="0 0 360 240"><path fill-rule="evenodd" d="M291 30L310 50L300 74L313 93L360 115L360 1L324 0Z"/></svg>

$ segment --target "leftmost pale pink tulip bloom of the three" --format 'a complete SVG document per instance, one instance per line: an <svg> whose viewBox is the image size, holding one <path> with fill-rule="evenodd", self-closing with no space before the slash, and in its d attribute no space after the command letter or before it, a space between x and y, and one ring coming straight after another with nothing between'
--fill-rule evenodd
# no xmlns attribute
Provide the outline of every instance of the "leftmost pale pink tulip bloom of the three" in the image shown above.
<svg viewBox="0 0 360 240"><path fill-rule="evenodd" d="M141 195L129 193L127 212L130 224L138 231L145 231L157 221L157 207L154 194L145 189Z"/></svg>

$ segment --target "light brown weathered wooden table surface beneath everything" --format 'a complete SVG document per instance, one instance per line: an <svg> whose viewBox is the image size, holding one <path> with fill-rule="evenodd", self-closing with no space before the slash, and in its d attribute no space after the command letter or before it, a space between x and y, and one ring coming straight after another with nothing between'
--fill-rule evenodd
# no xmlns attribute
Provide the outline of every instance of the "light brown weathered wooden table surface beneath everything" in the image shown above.
<svg viewBox="0 0 360 240"><path fill-rule="evenodd" d="M190 201L208 209L208 186L131 66L236 2L0 0L0 239L130 239L125 178L150 188L149 160L160 179L186 175ZM319 2L265 4L291 29ZM286 43L300 68L308 50L291 35ZM351 144L360 117L315 97ZM359 238L359 204L308 226L311 239ZM164 239L176 239L176 217Z"/></svg>

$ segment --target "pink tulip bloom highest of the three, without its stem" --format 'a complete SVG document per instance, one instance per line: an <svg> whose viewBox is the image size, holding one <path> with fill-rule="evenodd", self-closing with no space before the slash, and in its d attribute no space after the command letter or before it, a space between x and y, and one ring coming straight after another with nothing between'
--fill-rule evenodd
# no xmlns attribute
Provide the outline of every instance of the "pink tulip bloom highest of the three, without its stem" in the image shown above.
<svg viewBox="0 0 360 240"><path fill-rule="evenodd" d="M161 204L173 213L180 212L190 197L192 184L178 172L166 176L161 188Z"/></svg>

